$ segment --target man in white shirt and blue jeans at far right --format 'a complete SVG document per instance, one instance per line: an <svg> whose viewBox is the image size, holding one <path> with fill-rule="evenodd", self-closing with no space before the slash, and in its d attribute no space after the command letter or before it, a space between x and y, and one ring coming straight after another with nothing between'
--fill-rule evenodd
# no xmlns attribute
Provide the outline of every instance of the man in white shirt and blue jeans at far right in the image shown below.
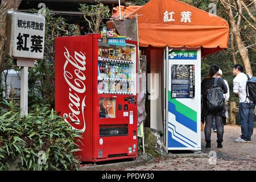
<svg viewBox="0 0 256 182"><path fill-rule="evenodd" d="M233 66L233 92L239 97L239 115L242 135L236 139L236 142L249 143L253 135L253 121L255 103L249 100L246 93L246 82L248 80L241 64ZM250 76L251 78L251 76Z"/></svg>

